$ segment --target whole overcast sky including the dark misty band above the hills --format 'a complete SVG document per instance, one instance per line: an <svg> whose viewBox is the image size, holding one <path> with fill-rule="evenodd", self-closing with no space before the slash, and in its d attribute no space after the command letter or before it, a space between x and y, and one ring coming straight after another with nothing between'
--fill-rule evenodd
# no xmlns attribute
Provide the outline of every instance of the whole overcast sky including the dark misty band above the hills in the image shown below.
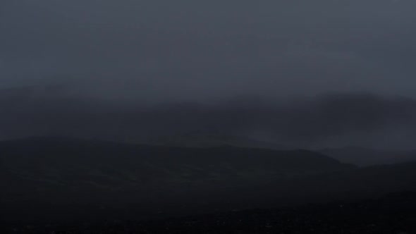
<svg viewBox="0 0 416 234"><path fill-rule="evenodd" d="M196 132L413 147L415 9L414 0L3 0L0 138Z"/></svg>

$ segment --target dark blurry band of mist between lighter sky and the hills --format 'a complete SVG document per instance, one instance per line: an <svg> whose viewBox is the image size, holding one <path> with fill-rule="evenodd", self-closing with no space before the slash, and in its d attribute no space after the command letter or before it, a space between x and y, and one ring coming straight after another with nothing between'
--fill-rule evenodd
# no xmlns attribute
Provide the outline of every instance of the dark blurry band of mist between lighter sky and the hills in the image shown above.
<svg viewBox="0 0 416 234"><path fill-rule="evenodd" d="M45 94L47 93L47 94ZM146 142L178 135L237 135L295 147L413 147L416 101L372 94L332 94L272 102L111 105L61 90L9 90L0 97L1 137L68 135Z"/></svg>

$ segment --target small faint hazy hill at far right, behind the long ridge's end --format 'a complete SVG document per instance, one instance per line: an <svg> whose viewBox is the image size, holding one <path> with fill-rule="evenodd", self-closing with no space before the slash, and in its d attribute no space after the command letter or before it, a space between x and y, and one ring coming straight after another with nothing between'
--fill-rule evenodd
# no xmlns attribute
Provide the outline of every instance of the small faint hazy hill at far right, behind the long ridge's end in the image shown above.
<svg viewBox="0 0 416 234"><path fill-rule="evenodd" d="M416 150L384 150L365 147L343 147L319 150L346 164L371 166L416 161Z"/></svg>

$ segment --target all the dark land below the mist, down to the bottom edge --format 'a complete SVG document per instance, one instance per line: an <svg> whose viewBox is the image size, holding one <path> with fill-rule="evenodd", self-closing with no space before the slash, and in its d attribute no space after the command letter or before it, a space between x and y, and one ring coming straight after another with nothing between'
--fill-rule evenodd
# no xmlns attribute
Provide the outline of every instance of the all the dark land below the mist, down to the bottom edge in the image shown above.
<svg viewBox="0 0 416 234"><path fill-rule="evenodd" d="M416 191L415 161L357 167L307 150L0 142L0 233L414 233L416 193L403 191Z"/></svg>

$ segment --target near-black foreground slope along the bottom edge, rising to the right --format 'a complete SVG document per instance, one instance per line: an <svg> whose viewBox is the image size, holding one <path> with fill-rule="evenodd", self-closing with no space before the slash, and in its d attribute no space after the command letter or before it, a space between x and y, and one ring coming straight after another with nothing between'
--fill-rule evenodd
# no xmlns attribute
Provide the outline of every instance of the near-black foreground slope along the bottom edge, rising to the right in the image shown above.
<svg viewBox="0 0 416 234"><path fill-rule="evenodd" d="M1 223L1 233L416 233L416 192L154 221Z"/></svg>

